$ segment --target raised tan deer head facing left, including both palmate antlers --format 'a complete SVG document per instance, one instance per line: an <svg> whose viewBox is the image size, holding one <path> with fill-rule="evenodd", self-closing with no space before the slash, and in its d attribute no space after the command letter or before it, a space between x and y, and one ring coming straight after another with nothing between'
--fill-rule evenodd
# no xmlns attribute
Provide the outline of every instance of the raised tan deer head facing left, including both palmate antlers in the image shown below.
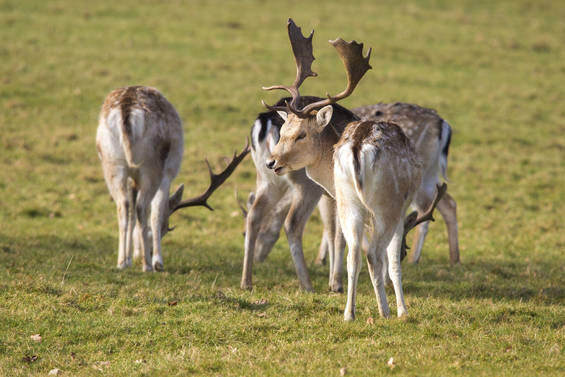
<svg viewBox="0 0 565 377"><path fill-rule="evenodd" d="M315 151L319 150L316 147L320 143L320 133L332 119L331 105L349 97L364 74L372 68L369 65L371 49L367 51L367 56L363 57L363 44L355 41L345 42L341 38L329 41L336 47L344 63L347 72L347 88L333 97L326 93L328 99L310 103L303 109L299 109L300 93L298 89L300 85L306 77L317 76L317 73L311 70L312 62L315 59L312 55L314 31L305 38L301 28L297 27L292 19L288 20L287 28L297 67L296 80L291 86L276 85L263 88L265 90L284 89L292 94L292 101L290 103L286 101L286 106L273 107L263 102L263 106L278 111L285 120L281 128L279 143L267 160L267 167L275 169L277 175L284 175L289 171L303 168L314 161Z"/></svg>

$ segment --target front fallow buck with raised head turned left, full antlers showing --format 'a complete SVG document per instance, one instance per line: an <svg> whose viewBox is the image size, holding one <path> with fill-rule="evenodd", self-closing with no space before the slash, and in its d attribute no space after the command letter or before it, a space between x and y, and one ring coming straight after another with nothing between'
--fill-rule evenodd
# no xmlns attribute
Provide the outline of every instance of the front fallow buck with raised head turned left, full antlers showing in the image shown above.
<svg viewBox="0 0 565 377"><path fill-rule="evenodd" d="M292 86L270 86L292 94L286 106L263 105L278 111L284 125L280 140L266 165L276 175L306 168L306 174L337 203L340 227L344 233L347 255L347 305L345 320L355 319L355 293L361 267L360 246L365 224L371 228L367 263L377 296L379 313L389 317L383 281L383 262L388 254L390 278L397 296L398 316L406 314L402 292L400 253L404 236L405 213L421 183L421 158L402 129L393 122L357 120L338 135L326 127L332 119L333 103L349 97L364 74L371 69L371 49L363 57L363 44L341 38L330 43L336 47L347 73L347 88L337 96L299 107L299 86L309 76L314 60L312 33L305 38L289 20L289 37L297 63L297 79ZM293 32L291 30L293 29Z"/></svg>

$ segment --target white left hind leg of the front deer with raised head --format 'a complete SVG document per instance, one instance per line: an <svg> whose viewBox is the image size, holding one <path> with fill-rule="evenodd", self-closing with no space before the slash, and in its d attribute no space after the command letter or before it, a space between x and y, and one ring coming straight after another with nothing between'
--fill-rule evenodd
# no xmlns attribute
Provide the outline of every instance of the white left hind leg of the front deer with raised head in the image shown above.
<svg viewBox="0 0 565 377"><path fill-rule="evenodd" d="M361 270L361 244L366 210L358 198L344 195L343 198L338 197L338 213L341 228L349 246L349 253L347 254L347 305L345 306L344 320L355 320L355 295L359 271Z"/></svg>

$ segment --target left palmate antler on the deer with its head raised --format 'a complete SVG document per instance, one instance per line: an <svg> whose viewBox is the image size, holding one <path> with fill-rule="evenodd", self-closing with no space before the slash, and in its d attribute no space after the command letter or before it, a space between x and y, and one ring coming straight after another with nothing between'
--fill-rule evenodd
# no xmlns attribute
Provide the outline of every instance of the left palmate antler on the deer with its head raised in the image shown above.
<svg viewBox="0 0 565 377"><path fill-rule="evenodd" d="M300 92L298 92L298 88L300 85L306 80L307 77L310 76L318 76L318 73L312 72L312 62L316 58L314 58L314 54L312 54L312 36L314 36L314 31L310 32L310 36L305 38L302 35L302 30L299 28L292 18L288 19L288 23L286 24L286 28L288 29L288 37L290 39L290 46L292 46L292 53L294 54L294 62L296 63L296 80L294 80L294 84L291 86L286 85L275 85L269 86L268 88L263 87L264 90L273 90L273 89L284 89L292 95L292 102L290 102L290 106L294 108L294 110L298 110L298 102L300 101ZM263 102L263 106L267 107L269 110L275 111L286 111L290 113L292 111L292 107L272 107L268 106L265 102Z"/></svg>

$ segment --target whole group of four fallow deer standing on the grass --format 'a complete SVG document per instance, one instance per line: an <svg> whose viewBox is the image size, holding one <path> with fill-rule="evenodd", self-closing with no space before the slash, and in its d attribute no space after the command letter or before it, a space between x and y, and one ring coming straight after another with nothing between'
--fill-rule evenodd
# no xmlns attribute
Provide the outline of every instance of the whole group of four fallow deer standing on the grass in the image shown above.
<svg viewBox="0 0 565 377"><path fill-rule="evenodd" d="M169 196L179 172L184 146L182 123L174 107L154 88L129 86L112 91L102 106L97 146L108 189L118 207L118 268L139 258L144 271L163 270L161 239L173 212L189 206L212 209L207 199L251 152L257 187L240 205L244 214L242 289L252 289L253 262L262 262L284 226L300 287L314 292L302 249L308 218L319 207L324 231L316 263L329 262L329 289L344 292L347 244L345 320L355 319L355 293L362 250L381 317L389 317L385 284L392 281L398 317L406 314L401 261L406 235L416 227L409 260L418 263L432 213L443 216L451 263L459 262L455 200L446 193L450 125L436 114L409 103L379 103L348 110L337 104L349 97L372 67L371 49L363 44L329 41L347 73L347 87L336 96L301 97L299 87L310 76L312 36L289 19L288 36L297 66L292 97L281 98L257 116L240 154L226 158L220 174L210 172L210 187L201 196L182 200L184 186ZM406 215L408 207L415 210ZM421 215L418 215L418 214ZM367 237L366 235L370 236Z"/></svg>

